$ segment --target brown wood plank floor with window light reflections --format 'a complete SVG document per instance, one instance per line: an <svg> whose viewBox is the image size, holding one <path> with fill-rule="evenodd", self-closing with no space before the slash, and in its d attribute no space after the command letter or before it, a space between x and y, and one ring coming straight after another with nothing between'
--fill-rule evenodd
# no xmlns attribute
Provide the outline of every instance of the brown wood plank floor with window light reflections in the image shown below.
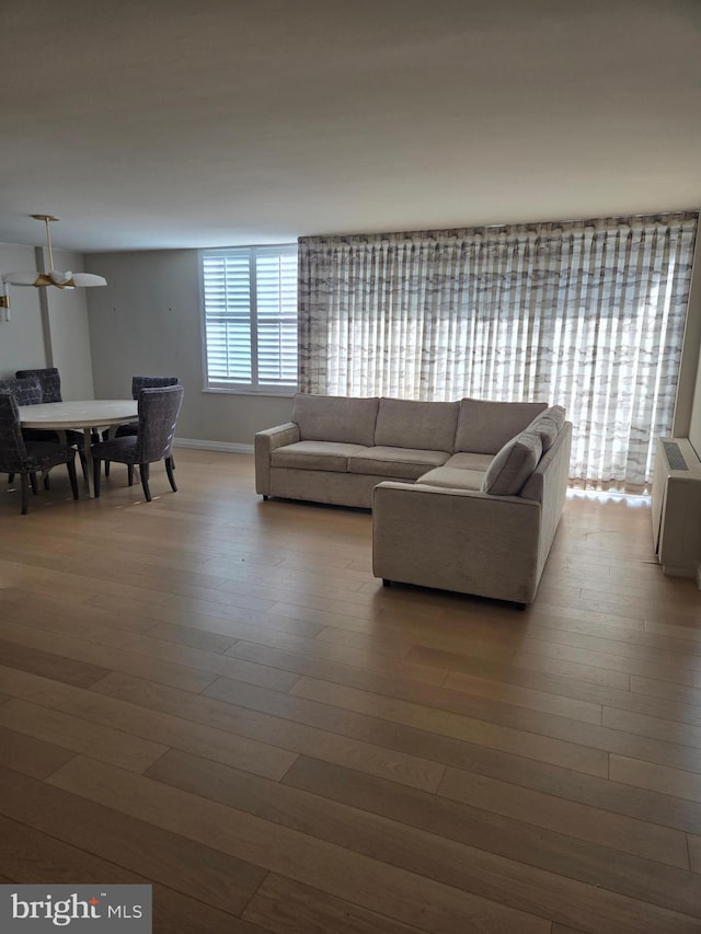
<svg viewBox="0 0 701 934"><path fill-rule="evenodd" d="M0 478L2 880L152 883L157 934L701 931L701 593L647 505L571 498L519 613L176 464Z"/></svg>

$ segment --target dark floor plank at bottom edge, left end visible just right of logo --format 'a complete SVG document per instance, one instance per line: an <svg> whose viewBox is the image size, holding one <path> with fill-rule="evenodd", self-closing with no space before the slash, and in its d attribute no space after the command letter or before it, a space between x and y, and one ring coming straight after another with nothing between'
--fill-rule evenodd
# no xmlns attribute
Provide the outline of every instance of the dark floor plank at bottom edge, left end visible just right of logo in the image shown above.
<svg viewBox="0 0 701 934"><path fill-rule="evenodd" d="M275 934L416 934L421 929L271 873L243 916Z"/></svg>

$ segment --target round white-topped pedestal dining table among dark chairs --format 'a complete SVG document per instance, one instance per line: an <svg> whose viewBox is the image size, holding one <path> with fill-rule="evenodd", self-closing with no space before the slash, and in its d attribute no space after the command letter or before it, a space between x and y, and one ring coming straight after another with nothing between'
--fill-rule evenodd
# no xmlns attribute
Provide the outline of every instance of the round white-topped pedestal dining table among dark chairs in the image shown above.
<svg viewBox="0 0 701 934"><path fill-rule="evenodd" d="M85 399L72 402L41 402L37 405L20 406L22 428L46 428L58 431L67 429L82 430L85 436L85 472L88 474L88 494L94 497L92 473L92 453L90 449L92 431L111 429L116 425L135 422L138 418L138 403L134 399ZM65 440L65 435L62 440Z"/></svg>

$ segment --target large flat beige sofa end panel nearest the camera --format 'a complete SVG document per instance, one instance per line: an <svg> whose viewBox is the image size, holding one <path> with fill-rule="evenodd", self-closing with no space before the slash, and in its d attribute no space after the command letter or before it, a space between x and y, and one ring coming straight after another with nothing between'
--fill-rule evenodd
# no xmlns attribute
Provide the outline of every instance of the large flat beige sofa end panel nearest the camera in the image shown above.
<svg viewBox="0 0 701 934"><path fill-rule="evenodd" d="M536 596L541 505L425 484L380 483L372 570L384 580L517 603Z"/></svg>

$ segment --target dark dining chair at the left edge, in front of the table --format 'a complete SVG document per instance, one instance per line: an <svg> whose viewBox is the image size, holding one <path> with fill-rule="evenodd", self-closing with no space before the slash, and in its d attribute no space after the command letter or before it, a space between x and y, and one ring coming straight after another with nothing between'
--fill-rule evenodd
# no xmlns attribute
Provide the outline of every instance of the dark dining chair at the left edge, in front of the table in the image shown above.
<svg viewBox="0 0 701 934"><path fill-rule="evenodd" d="M12 392L0 390L0 473L20 474L22 515L30 508L30 486L36 493L36 474L66 464L73 499L78 499L76 449L54 441L26 441L20 427L20 412Z"/></svg>

